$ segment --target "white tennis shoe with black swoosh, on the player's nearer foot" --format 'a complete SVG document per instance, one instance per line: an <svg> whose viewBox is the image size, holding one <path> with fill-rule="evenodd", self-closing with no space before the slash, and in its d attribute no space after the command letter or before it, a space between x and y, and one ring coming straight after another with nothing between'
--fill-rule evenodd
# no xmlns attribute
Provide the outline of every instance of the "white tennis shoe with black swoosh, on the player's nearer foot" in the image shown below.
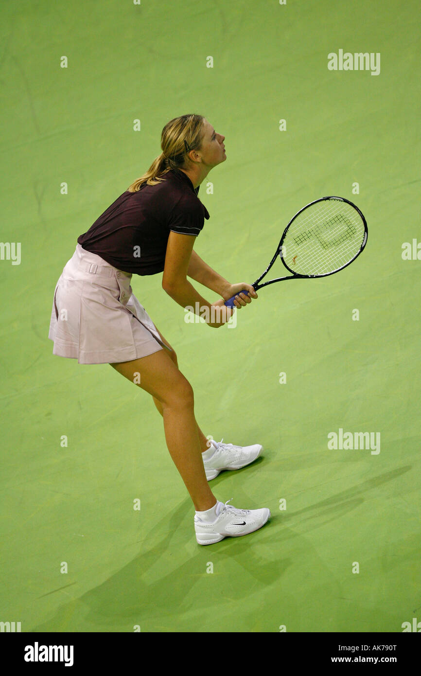
<svg viewBox="0 0 421 676"><path fill-rule="evenodd" d="M267 507L253 510L237 509L228 505L230 500L225 504L218 500L216 521L201 521L195 514L196 540L199 545L212 545L224 537L248 535L262 528L270 518L270 510Z"/></svg>

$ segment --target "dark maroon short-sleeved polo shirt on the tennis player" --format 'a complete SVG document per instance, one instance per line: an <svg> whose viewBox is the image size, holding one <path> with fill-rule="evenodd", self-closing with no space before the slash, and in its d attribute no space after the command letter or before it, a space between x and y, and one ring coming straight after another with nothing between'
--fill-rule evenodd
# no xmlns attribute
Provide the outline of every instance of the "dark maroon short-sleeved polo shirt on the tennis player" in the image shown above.
<svg viewBox="0 0 421 676"><path fill-rule="evenodd" d="M89 231L78 237L86 251L118 270L156 274L164 270L170 231L199 235L209 213L189 176L172 170L157 185L143 184L137 193L120 195Z"/></svg>

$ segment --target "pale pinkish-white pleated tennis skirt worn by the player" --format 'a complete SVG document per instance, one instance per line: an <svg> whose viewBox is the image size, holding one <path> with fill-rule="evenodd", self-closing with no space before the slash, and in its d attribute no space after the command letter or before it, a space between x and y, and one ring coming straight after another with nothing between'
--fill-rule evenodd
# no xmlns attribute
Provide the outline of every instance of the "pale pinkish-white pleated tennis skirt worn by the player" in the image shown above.
<svg viewBox="0 0 421 676"><path fill-rule="evenodd" d="M53 354L79 364L113 364L169 349L132 293L132 275L76 245L54 290Z"/></svg>

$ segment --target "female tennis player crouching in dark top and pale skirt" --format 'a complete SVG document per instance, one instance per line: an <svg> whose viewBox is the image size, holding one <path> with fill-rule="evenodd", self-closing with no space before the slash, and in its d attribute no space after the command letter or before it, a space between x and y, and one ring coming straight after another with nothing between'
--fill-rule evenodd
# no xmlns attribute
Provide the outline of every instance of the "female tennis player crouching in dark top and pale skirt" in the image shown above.
<svg viewBox="0 0 421 676"><path fill-rule="evenodd" d="M209 213L198 197L209 171L226 160L224 136L201 115L182 115L162 130L162 153L141 178L78 237L76 251L55 287L49 338L53 354L80 364L109 363L152 397L164 418L168 450L195 506L199 544L247 535L270 517L268 508L242 510L220 502L209 481L222 470L253 462L261 445L207 440L197 425L193 389L176 354L132 293L132 274L163 272L162 288L182 308L203 313L222 327L257 298L247 283L230 284L193 250ZM221 296L209 303L193 279ZM241 293L245 289L250 295ZM232 498L231 498L232 500Z"/></svg>

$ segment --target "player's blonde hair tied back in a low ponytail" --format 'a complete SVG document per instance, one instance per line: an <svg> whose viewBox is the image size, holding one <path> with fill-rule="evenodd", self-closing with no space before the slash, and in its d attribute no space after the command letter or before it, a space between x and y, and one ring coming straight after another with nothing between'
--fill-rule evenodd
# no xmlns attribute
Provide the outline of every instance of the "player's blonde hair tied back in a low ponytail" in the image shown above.
<svg viewBox="0 0 421 676"><path fill-rule="evenodd" d="M159 178L172 169L184 168L187 153L200 150L203 140L203 115L180 115L167 122L161 134L162 153L157 157L141 178L137 178L128 187L130 193L136 193L143 183L157 185Z"/></svg>

